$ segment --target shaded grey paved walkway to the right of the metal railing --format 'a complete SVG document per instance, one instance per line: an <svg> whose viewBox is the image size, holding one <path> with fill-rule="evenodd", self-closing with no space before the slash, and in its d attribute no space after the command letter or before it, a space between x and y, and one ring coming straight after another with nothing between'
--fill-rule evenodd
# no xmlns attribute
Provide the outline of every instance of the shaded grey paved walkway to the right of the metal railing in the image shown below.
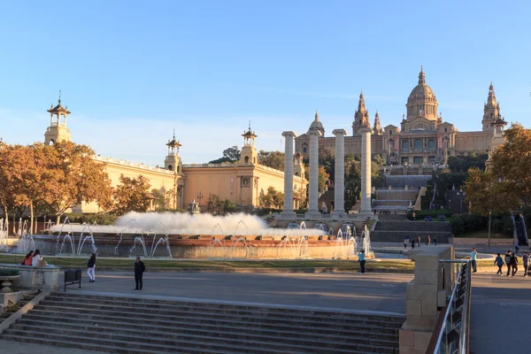
<svg viewBox="0 0 531 354"><path fill-rule="evenodd" d="M530 326L531 278L524 278L521 270L515 278L473 274L470 350L474 354L529 353Z"/></svg>

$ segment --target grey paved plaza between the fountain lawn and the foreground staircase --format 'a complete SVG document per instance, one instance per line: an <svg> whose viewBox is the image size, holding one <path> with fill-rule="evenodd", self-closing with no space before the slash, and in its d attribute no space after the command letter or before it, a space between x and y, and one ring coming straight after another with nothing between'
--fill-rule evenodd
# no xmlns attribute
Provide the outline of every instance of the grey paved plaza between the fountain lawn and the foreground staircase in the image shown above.
<svg viewBox="0 0 531 354"><path fill-rule="evenodd" d="M96 273L94 283L84 279L81 289L90 291L405 312L412 274L145 273L142 291L133 290L132 273Z"/></svg>

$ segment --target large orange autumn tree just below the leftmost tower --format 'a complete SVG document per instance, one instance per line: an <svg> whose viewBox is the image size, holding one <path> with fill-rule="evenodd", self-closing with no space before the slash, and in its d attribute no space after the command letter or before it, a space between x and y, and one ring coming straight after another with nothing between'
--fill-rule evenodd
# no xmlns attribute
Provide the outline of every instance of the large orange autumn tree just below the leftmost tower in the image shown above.
<svg viewBox="0 0 531 354"><path fill-rule="evenodd" d="M83 202L96 202L104 209L112 205L111 180L104 164L92 158L94 150L89 146L56 142L32 147L42 167L41 194L57 222L66 210Z"/></svg>

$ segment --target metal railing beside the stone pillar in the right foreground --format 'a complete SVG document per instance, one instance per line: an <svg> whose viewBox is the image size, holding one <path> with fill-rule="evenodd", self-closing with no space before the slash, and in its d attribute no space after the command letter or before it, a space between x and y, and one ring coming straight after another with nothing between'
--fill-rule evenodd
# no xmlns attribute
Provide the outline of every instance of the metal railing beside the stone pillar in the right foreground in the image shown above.
<svg viewBox="0 0 531 354"><path fill-rule="evenodd" d="M427 353L468 354L470 327L471 265L470 259L440 260L457 266L457 279L446 307L441 311Z"/></svg>

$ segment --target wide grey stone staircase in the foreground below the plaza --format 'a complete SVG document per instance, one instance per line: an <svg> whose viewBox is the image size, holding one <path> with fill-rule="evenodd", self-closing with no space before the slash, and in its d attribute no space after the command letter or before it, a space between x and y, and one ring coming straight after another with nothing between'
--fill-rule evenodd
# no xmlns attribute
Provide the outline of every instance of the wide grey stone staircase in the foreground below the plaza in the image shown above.
<svg viewBox="0 0 531 354"><path fill-rule="evenodd" d="M398 353L386 312L57 292L0 339L112 353Z"/></svg>

